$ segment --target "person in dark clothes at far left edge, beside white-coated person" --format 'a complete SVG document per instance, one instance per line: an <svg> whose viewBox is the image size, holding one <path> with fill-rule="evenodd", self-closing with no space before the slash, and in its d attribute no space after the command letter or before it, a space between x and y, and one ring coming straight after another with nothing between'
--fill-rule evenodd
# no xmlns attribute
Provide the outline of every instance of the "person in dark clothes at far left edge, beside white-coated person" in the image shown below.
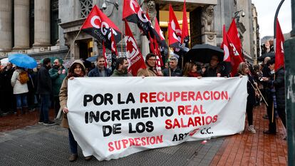
<svg viewBox="0 0 295 166"><path fill-rule="evenodd" d="M13 113L16 110L16 99L14 98L13 90L14 88L11 86L11 77L14 73L14 68L12 64L7 63L6 67L3 68L3 71L0 74L0 107L2 111L2 115L7 115L10 111Z"/></svg>

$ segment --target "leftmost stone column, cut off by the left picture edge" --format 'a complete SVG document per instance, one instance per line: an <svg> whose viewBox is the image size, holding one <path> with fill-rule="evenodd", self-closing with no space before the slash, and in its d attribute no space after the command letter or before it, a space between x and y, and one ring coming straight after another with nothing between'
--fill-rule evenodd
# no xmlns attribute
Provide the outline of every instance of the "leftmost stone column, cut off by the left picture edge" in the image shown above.
<svg viewBox="0 0 295 166"><path fill-rule="evenodd" d="M0 0L0 52L11 51L11 0Z"/></svg>

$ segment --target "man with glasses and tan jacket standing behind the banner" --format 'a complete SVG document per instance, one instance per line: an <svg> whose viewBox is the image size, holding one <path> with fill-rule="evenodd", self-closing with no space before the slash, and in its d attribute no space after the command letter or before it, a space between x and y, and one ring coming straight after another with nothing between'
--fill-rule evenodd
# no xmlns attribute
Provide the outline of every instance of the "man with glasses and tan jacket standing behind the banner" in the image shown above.
<svg viewBox="0 0 295 166"><path fill-rule="evenodd" d="M147 68L140 68L138 70L138 76L145 76L145 77L163 76L161 71L156 71L155 63L156 63L155 54L148 53L148 55L145 57L145 66Z"/></svg>

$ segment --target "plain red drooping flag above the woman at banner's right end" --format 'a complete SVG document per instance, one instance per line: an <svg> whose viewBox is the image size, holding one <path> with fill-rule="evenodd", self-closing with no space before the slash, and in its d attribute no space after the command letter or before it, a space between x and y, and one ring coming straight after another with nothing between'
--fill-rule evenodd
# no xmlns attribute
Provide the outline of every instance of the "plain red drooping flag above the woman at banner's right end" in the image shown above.
<svg viewBox="0 0 295 166"><path fill-rule="evenodd" d="M236 21L232 19L232 24L229 26L229 31L227 31L229 38L232 40L232 44L234 44L234 48L238 51L239 55L242 56L242 44L239 40L239 33L237 31ZM244 59L244 58L242 58ZM244 61L244 60L243 60Z"/></svg>

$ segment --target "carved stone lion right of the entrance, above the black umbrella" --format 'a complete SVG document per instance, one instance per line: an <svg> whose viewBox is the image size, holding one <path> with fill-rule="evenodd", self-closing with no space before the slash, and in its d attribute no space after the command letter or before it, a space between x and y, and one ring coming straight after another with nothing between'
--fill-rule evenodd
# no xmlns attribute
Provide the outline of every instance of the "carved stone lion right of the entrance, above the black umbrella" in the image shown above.
<svg viewBox="0 0 295 166"><path fill-rule="evenodd" d="M208 5L202 11L202 33L214 32L214 6Z"/></svg>

